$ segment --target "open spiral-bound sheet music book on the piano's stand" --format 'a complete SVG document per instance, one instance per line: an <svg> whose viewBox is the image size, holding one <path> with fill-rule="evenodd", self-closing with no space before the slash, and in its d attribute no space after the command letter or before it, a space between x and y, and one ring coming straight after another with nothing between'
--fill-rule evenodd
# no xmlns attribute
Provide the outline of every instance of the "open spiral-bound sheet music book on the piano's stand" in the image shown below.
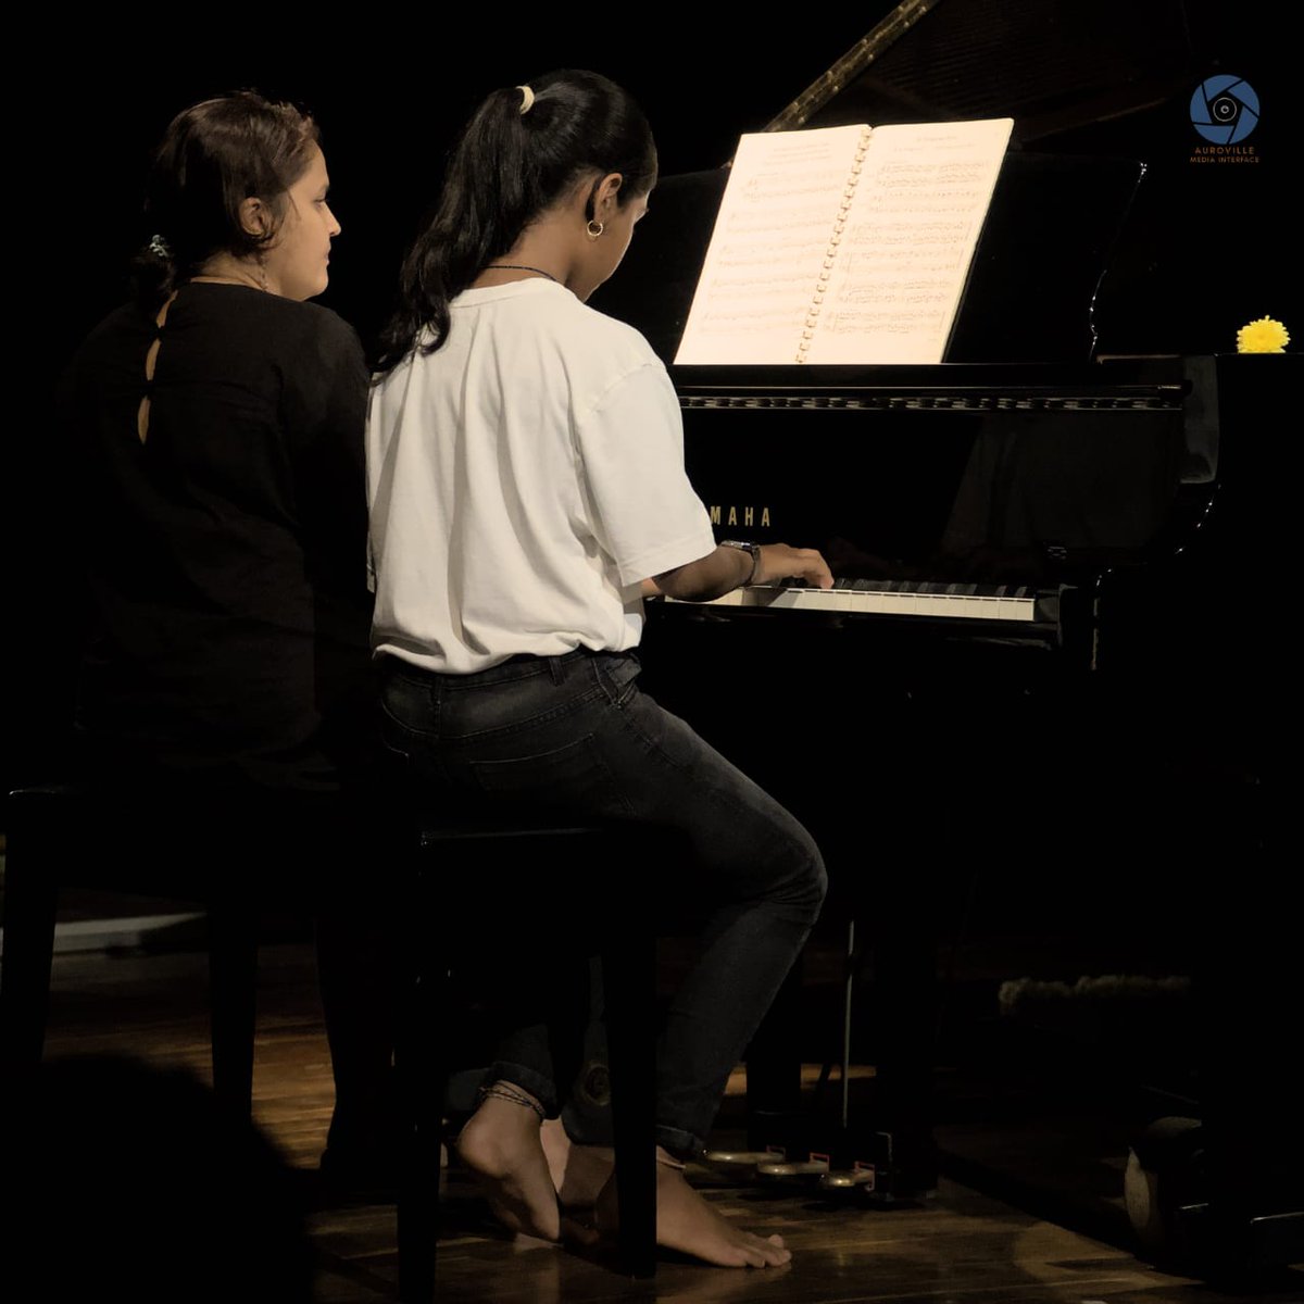
<svg viewBox="0 0 1304 1304"><path fill-rule="evenodd" d="M675 363L940 363L1013 125L743 136Z"/></svg>

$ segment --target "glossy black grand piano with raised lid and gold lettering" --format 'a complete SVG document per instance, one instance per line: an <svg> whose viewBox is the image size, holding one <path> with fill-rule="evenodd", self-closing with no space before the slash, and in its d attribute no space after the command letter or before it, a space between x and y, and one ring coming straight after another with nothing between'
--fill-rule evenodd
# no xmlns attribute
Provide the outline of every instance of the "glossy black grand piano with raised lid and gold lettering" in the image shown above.
<svg viewBox="0 0 1304 1304"><path fill-rule="evenodd" d="M673 365L726 160L662 179L593 305L670 365L717 537L816 546L837 578L656 602L644 643L648 687L824 848L822 927L846 930L859 1004L818 1035L878 1065L868 1119L844 1088L835 1134L802 1134L812 1025L794 982L748 1056L752 1145L867 1161L888 1193L935 1181L938 975L979 900L1016 931L1097 930L1104 962L1129 943L1187 966L1200 1045L1164 1107L1201 1121L1204 1168L1164 1179L1185 1201L1166 1249L1291 1262L1304 1007L1270 721L1294 677L1260 634L1282 612L1269 566L1292 481L1265 432L1300 377L1294 359L1187 349L1180 330L1137 346L1158 318L1138 304L1153 232L1136 227L1158 210L1148 162L1111 147L1120 119L1193 82L1167 39L1184 9L1129 10L1103 77L1073 14L1025 16L1038 39L1011 78L983 0L908 0L769 124L1015 117L943 364Z"/></svg>

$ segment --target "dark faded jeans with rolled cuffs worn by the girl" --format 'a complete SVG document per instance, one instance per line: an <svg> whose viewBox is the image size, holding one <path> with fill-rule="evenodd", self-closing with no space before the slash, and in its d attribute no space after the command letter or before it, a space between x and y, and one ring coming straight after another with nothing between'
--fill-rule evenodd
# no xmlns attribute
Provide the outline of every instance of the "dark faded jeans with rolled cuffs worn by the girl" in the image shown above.
<svg viewBox="0 0 1304 1304"><path fill-rule="evenodd" d="M827 883L806 829L642 694L638 674L631 653L512 657L469 675L386 657L381 728L432 795L473 793L509 810L653 823L687 836L696 898L686 914L705 925L659 1048L657 1140L689 1155L704 1145L729 1073L797 958ZM549 884L565 896L565 882ZM623 895L648 898L659 888L630 884ZM493 1072L556 1112L537 1029L511 1034Z"/></svg>

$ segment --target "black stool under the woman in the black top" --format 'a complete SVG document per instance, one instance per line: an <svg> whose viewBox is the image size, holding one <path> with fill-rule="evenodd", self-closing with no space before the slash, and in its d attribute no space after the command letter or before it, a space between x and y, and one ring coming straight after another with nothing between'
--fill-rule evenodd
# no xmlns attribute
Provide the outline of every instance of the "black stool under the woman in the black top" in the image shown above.
<svg viewBox="0 0 1304 1304"><path fill-rule="evenodd" d="M349 854L322 818L330 814L325 801L276 795L236 801L74 784L10 793L0 1067L21 1073L40 1063L63 888L193 901L209 915L214 1093L248 1115L259 921L319 908L322 858Z"/></svg>

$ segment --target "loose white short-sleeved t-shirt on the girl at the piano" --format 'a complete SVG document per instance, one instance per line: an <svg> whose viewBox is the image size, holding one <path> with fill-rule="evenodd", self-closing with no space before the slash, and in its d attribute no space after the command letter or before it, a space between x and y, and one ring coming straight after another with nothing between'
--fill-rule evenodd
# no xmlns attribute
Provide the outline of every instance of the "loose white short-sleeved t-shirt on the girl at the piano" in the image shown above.
<svg viewBox="0 0 1304 1304"><path fill-rule="evenodd" d="M548 280L468 289L372 391L372 647L468 674L639 642L639 582L715 548L636 330Z"/></svg>

